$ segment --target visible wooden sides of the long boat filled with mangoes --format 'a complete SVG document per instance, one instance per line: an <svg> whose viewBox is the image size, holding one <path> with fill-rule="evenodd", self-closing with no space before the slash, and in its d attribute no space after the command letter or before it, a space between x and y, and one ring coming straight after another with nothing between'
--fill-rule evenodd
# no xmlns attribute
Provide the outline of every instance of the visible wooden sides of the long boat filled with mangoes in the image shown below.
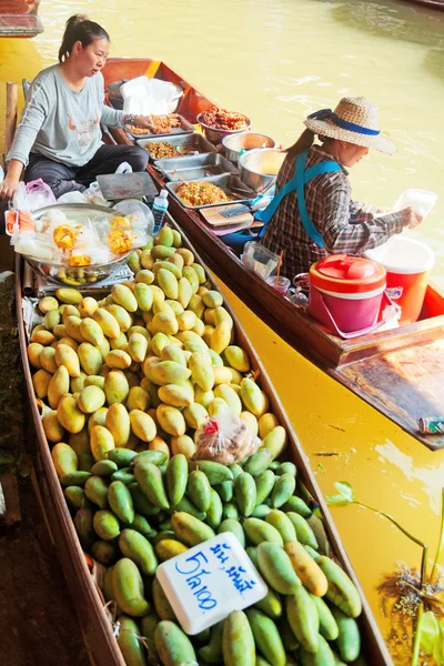
<svg viewBox="0 0 444 666"><path fill-rule="evenodd" d="M180 229L171 216L169 219L169 223L173 228ZM193 245L186 241L186 239L184 239L184 246L189 248L194 253L199 262L203 264L198 252ZM206 266L204 268L208 272ZM37 438L37 478L40 487L42 505L47 514L48 524L50 526L51 534L67 577L67 583L78 612L79 622L83 630L92 662L95 664L95 666L125 666L113 635L112 624L104 609L103 598L93 577L91 576L91 572L87 565L85 556L80 547L73 522L52 464L50 447L42 428L27 354L28 334L26 319L23 316L23 305L26 302L22 293L22 274L23 262L18 256L16 270L18 330L31 417ZM213 285L212 289L218 287ZM103 290L101 293L104 294L108 292L109 289ZM97 295L97 292L94 295ZM391 656L381 637L379 627L374 620L374 617L372 616L369 604L362 594L362 589L359 585L356 576L354 575L346 552L341 544L337 531L319 490L315 477L306 462L305 454L299 443L297 436L294 433L291 422L283 411L279 396L276 395L264 371L264 367L253 346L251 345L245 332L243 331L238 317L226 302L225 306L234 320L238 343L248 352L252 370L259 375L256 381L270 397L271 411L274 412L280 423L289 433L287 457L297 465L300 478L305 484L315 502L320 504L321 511L324 515L325 532L332 546L333 554L352 577L361 593L363 601L363 613L359 622L363 636L362 654L365 656L367 663L372 664L372 666L390 666L393 664Z"/></svg>

